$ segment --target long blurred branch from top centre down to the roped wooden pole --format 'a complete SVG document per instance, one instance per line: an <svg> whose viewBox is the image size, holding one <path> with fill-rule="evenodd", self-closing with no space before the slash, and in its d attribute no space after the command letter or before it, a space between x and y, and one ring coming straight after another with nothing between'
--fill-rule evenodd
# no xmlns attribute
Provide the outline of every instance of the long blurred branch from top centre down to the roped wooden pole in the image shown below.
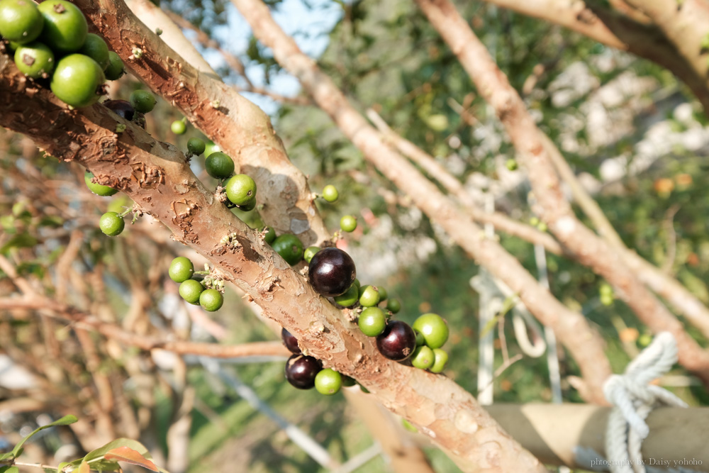
<svg viewBox="0 0 709 473"><path fill-rule="evenodd" d="M413 203L438 223L476 262L519 294L525 306L542 323L552 327L559 340L571 352L581 368L587 391L581 395L599 404L605 402L603 382L610 375L610 365L603 353L603 340L581 314L569 310L547 289L542 288L518 260L496 241L486 238L482 229L459 210L450 199L426 179L405 157L381 138L381 134L347 101L332 79L318 69L274 22L258 0L232 0L250 23L254 35L271 48L279 64L301 82L320 108L328 113L342 133L364 153L396 187L408 194Z"/></svg>

